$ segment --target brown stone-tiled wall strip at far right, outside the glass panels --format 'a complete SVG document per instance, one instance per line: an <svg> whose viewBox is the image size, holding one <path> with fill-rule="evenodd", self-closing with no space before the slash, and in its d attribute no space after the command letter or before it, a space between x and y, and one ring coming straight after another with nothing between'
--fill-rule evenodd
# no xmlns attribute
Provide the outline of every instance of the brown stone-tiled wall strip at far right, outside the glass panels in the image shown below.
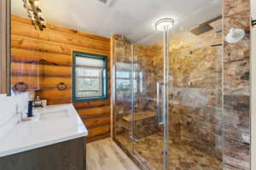
<svg viewBox="0 0 256 170"><path fill-rule="evenodd" d="M224 167L250 169L250 1L224 0L224 35L241 28L241 42L224 42Z"/></svg>

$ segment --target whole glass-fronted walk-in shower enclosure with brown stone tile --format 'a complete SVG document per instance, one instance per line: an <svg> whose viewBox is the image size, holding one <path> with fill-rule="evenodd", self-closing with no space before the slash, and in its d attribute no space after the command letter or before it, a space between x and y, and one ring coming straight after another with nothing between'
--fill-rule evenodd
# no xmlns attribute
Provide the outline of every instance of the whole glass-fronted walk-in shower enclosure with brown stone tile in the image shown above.
<svg viewBox="0 0 256 170"><path fill-rule="evenodd" d="M113 138L142 169L224 169L221 6L150 45L113 36Z"/></svg>

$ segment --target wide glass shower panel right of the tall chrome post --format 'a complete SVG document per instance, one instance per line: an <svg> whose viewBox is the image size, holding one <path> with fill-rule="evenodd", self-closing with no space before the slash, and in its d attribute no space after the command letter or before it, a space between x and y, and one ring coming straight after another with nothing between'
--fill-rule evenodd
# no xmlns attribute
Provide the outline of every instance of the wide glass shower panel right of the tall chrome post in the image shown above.
<svg viewBox="0 0 256 170"><path fill-rule="evenodd" d="M224 169L222 27L216 14L172 35L168 170Z"/></svg>

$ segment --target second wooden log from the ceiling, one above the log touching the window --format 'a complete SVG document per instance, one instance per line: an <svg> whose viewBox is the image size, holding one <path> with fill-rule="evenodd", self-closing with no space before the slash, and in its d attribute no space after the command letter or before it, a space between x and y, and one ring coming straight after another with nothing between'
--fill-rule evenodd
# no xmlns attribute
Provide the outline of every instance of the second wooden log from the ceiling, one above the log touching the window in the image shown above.
<svg viewBox="0 0 256 170"><path fill-rule="evenodd" d="M35 30L33 26L22 24L14 20L12 20L11 26L12 35L32 37L49 42L61 42L82 48L93 48L105 51L109 51L110 48L109 42L101 42L89 37L81 37L75 34L71 35L63 31L50 30L49 28L44 29L44 31L38 31Z"/></svg>

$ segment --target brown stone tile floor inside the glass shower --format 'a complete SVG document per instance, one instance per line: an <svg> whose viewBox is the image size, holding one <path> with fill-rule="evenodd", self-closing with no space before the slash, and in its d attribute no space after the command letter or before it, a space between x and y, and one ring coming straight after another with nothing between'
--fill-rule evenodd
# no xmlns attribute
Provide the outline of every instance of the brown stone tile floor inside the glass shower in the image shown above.
<svg viewBox="0 0 256 170"><path fill-rule="evenodd" d="M122 133L116 138L125 148L131 150L132 144L128 135ZM168 170L222 170L222 161L216 157L195 150L187 144L169 143ZM163 133L155 133L138 143L133 143L132 155L151 170L163 169Z"/></svg>

